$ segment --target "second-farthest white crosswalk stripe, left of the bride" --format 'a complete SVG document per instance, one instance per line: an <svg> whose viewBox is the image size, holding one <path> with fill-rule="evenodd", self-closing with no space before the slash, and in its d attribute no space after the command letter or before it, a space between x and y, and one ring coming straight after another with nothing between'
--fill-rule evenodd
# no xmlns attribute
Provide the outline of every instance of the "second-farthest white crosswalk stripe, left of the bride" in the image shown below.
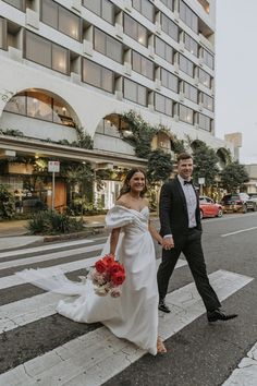
<svg viewBox="0 0 257 386"><path fill-rule="evenodd" d="M10 262L0 263L0 270L12 268L12 267L19 267L21 265L29 265L35 263L48 262L49 260L63 258L68 256L75 256L83 253L94 252L94 251L102 250L105 245L106 244L97 244L91 246L78 248L76 250L60 251L60 252L49 253L46 255L37 255L33 257L12 260Z"/></svg>

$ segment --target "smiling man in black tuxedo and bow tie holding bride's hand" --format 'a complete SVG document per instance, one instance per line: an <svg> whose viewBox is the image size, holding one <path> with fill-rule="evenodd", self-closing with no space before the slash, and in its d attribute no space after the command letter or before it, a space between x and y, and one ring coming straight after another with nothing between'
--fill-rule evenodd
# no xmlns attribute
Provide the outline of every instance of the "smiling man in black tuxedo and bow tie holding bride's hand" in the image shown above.
<svg viewBox="0 0 257 386"><path fill-rule="evenodd" d="M210 286L201 248L201 225L198 196L192 184L193 158L187 153L178 156L178 176L162 185L160 194L160 234L162 261L158 269L159 310L170 309L164 302L169 279L181 252L184 253L196 288L204 301L209 322L228 321L236 314L221 311L220 301Z"/></svg>

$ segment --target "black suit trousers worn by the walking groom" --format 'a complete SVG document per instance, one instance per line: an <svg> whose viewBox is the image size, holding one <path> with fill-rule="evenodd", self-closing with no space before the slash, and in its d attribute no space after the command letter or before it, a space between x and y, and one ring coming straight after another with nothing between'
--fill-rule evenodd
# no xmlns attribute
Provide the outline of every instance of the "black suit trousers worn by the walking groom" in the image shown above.
<svg viewBox="0 0 257 386"><path fill-rule="evenodd" d="M184 253L189 269L194 277L196 288L205 303L207 311L213 311L221 306L220 301L210 286L207 276L204 252L201 248L201 231L188 229L178 242L174 240L174 248L162 250L162 261L157 273L158 289L160 299L164 299L170 277L181 252Z"/></svg>

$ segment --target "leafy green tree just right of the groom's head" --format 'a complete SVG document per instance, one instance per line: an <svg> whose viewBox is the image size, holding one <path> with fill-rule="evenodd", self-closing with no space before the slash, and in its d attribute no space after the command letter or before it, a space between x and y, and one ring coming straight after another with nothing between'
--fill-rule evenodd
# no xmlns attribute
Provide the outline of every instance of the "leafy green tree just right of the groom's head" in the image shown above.
<svg viewBox="0 0 257 386"><path fill-rule="evenodd" d="M193 150L194 157L194 181L198 183L198 178L205 178L205 185L211 186L219 173L217 166L219 159L216 152L205 143L199 143Z"/></svg>

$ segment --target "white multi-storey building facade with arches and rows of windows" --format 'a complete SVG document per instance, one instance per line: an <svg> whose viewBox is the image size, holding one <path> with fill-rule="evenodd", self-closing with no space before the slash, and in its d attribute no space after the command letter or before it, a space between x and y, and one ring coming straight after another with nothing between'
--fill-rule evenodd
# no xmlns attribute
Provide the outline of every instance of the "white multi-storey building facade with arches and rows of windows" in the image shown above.
<svg viewBox="0 0 257 386"><path fill-rule="evenodd" d="M215 136L215 0L0 0L0 183L29 191L24 157L144 167L118 130L131 110L205 142L222 166L234 150ZM91 149L70 146L77 128ZM171 136L156 146L171 152ZM108 208L120 182L103 182ZM50 176L40 183L49 204ZM56 185L65 205L58 174Z"/></svg>

